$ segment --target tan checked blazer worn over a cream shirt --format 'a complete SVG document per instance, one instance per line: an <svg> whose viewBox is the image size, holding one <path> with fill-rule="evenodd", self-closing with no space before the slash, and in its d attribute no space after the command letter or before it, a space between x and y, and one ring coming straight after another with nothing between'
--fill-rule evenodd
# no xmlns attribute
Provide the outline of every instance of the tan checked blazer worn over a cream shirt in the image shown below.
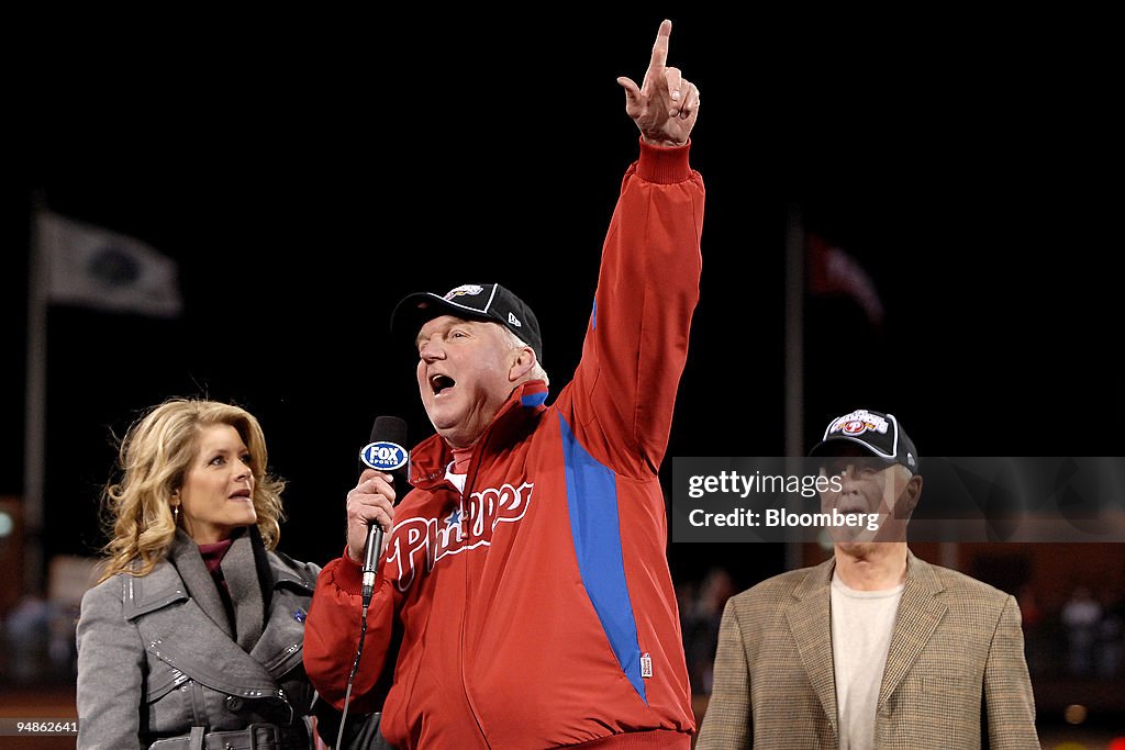
<svg viewBox="0 0 1125 750"><path fill-rule="evenodd" d="M696 750L836 750L835 560L727 602ZM1015 597L907 555L879 689L875 748L1040 750Z"/></svg>

